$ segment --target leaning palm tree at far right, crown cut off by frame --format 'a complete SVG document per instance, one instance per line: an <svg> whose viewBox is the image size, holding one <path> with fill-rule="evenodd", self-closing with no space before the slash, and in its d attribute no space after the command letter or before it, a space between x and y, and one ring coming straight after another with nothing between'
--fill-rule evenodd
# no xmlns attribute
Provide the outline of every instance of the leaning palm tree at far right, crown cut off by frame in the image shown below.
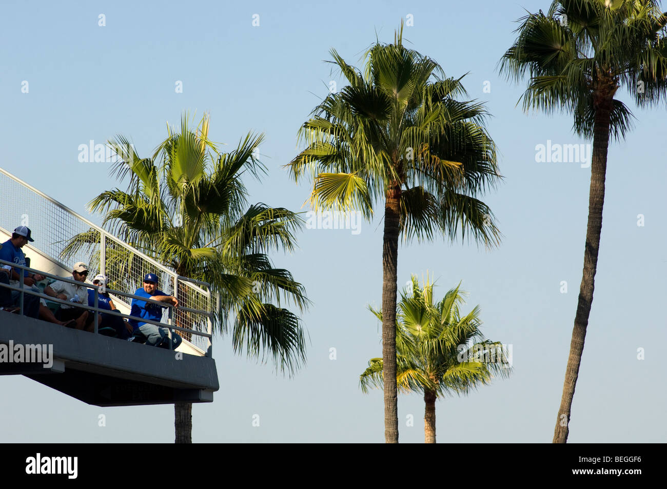
<svg viewBox="0 0 667 489"><path fill-rule="evenodd" d="M609 140L624 138L631 126L630 109L614 96L624 87L640 107L664 99L667 16L651 0L562 0L548 13L520 21L516 41L500 61L501 73L516 81L530 75L525 110L571 112L574 132L593 138L584 272L553 440L566 443L593 302Z"/></svg>

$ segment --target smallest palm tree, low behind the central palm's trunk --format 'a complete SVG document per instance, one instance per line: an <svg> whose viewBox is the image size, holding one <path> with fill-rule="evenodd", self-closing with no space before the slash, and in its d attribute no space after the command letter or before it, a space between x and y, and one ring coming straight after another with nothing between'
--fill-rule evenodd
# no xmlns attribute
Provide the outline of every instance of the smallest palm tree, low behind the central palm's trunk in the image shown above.
<svg viewBox="0 0 667 489"><path fill-rule="evenodd" d="M396 312L396 382L402 392L424 394L424 441L436 442L436 399L446 393L468 394L488 384L493 374L508 377L512 365L506 348L485 340L480 308L465 316L460 312L464 292L460 284L433 303L434 284L428 278L420 287L416 276L402 292ZM382 321L382 311L369 307ZM364 392L382 388L382 358L372 358L360 375Z"/></svg>

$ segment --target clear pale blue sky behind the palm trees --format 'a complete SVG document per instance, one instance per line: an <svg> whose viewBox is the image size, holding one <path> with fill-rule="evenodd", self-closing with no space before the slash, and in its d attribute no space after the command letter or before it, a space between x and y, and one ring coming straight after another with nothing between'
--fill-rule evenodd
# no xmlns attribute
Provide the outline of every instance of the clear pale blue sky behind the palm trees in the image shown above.
<svg viewBox="0 0 667 489"><path fill-rule="evenodd" d="M581 281L590 168L538 163L536 145L590 141L572 135L568 115L523 113L515 106L522 86L496 71L514 39L514 21L524 9L549 5L3 0L0 166L85 213L95 195L123 184L110 179L105 163L79 163L80 144L122 133L147 155L165 137L166 121L177 123L185 110L209 111L216 141L235 145L251 130L266 135L261 157L269 175L261 183L247 181L251 201L299 210L309 186L295 185L281 165L295 155L299 125L337 79L323 62L329 49L360 65L376 35L392 41L401 19L412 14L414 26L404 38L447 75L468 73L470 97L486 101L505 177L484 197L504 233L500 248L440 239L400 249L400 286L410 274L421 278L428 271L440 297L462 281L470 292L466 310L480 304L484 334L513 345L512 378L438 401L438 442L550 442ZM98 25L100 14L105 27ZM28 93L21 92L24 80ZM183 93L175 93L177 81ZM634 131L610 145L602 246L570 442L667 441L661 360L667 334L659 306L667 270L667 123L664 105L633 111ZM313 301L303 316L311 342L307 368L291 379L276 376L271 365L234 356L229 338L218 336L220 390L212 404L193 406L193 441L384 441L382 392L366 395L358 387L368 359L382 354L380 325L366 310L382 298L380 217L358 235L304 230L299 251L274 257ZM567 294L560 292L562 281ZM329 360L330 348L336 360ZM637 359L638 348L645 349L645 360ZM0 388L3 442L173 442L173 406L87 406L16 376L0 378ZM422 398L402 395L398 407L400 440L423 442ZM97 426L99 414L106 415L104 428ZM252 426L254 414L259 427ZM409 415L414 426L406 426Z"/></svg>

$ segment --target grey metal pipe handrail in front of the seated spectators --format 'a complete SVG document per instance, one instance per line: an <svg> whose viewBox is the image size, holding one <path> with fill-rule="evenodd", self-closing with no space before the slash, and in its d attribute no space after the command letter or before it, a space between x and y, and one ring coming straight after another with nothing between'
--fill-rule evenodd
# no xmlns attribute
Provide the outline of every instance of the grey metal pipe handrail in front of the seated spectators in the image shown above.
<svg viewBox="0 0 667 489"><path fill-rule="evenodd" d="M47 272L42 272L41 270L37 270L35 268L30 268L30 267L25 266L25 265L15 264L13 262L8 262L7 260L0 260L0 265L2 265L2 266L11 266L12 268L17 268L17 269L22 270L22 271L31 272L32 274L43 275L45 277L53 278L53 279L59 280L61 282L65 282L67 284L73 284L73 285L76 285L76 286L83 286L85 288L95 290L95 306L88 306L88 304L81 304L79 302L70 302L70 301L67 301L67 300L61 300L61 299L55 298L53 296L49 296L48 294L42 294L41 292L35 292L34 290L25 288L25 286L24 286L25 275L23 273L21 273L21 274L18 274L19 275L19 284L20 284L18 287L13 286L11 284L0 283L0 287L8 288L10 290L16 290L16 291L20 292L20 294L21 294L21 300L20 300L20 306L19 306L20 307L20 311L19 311L20 314L23 314L23 311L24 311L24 308L23 308L23 294L27 293L27 294L31 294L32 296L37 296L37 297L39 297L41 299L44 299L44 300L48 300L49 302L54 302L55 304L62 304L64 306L81 308L81 309L85 309L85 310L89 310L89 311L94 311L94 312L97 312L97 313L102 312L102 313L105 313L105 314L117 314L121 318L140 320L143 323L154 324L155 326L165 326L169 330L169 337L170 337L169 339L170 340L171 340L171 330L182 331L182 332L186 332L186 333L189 333L189 334L195 334L196 336L202 336L203 338L209 338L209 339L212 338L211 333L199 332L197 330L188 330L188 329L185 329L185 328L180 328L179 326L173 326L171 324L164 324L162 322L147 320L147 319L141 318L139 316L131 316L129 314L122 314L121 312L117 312L117 311L109 312L108 310L100 309L99 306L98 306L99 302L97 302L97 297L98 297L97 294L99 292L100 286L96 286L95 284L87 284L85 282L79 282L78 280L73 280L73 279L70 279L70 278L65 278L65 277L54 275L54 274L48 274ZM4 273L4 272L6 272L6 270L0 270L0 273ZM9 280L10 281L13 280L11 278L11 272L9 272ZM171 318L171 310L173 308L177 308L177 306L173 306L173 304L160 302L158 300L145 298L143 296L137 296L135 294L127 294L126 292L121 292L121 291L117 291L117 290L109 290L109 293L113 294L114 296L120 295L120 296L124 296L124 297L129 297L129 298L132 298L132 299L139 299L139 300L142 300L142 301L145 301L145 302L152 302L154 304L158 304L159 306L161 306L163 308L169 308L169 317L170 318ZM208 318L211 318L213 316L213 313L211 313L211 312L193 310L193 309L189 309L189 308L181 308L181 310L186 311L186 312L193 312L195 314L204 314ZM94 330L95 333L98 332L97 331L97 329L98 329L97 328L97 326L98 326L97 321L98 321L98 317L97 317L97 314L95 314L95 330ZM171 350L171 341L169 341L169 350Z"/></svg>

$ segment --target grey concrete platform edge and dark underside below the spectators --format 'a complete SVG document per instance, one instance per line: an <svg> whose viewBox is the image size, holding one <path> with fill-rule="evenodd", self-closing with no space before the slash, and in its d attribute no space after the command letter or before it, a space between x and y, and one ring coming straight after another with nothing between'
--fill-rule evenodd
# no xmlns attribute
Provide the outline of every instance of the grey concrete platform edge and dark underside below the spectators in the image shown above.
<svg viewBox="0 0 667 489"><path fill-rule="evenodd" d="M0 375L25 375L95 406L211 402L215 360L63 328L0 311L0 344L52 347L44 362L0 361Z"/></svg>

